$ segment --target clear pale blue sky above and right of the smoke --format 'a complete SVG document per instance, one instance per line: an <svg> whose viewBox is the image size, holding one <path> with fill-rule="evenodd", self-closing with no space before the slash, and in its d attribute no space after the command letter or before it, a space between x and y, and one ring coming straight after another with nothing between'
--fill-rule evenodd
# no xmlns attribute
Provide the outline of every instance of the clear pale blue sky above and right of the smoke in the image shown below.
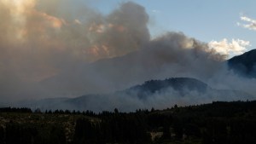
<svg viewBox="0 0 256 144"><path fill-rule="evenodd" d="M120 3L127 1L90 1L90 5L108 14L118 8ZM151 37L158 37L165 32L183 32L189 37L195 37L202 42L218 42L232 44L243 40L249 42L241 50L245 52L255 49L255 19L256 1L254 0L132 0L141 4L149 15L148 27ZM254 30L243 27L250 24L242 17L254 19ZM242 45L240 43L240 45ZM221 51L221 50L220 50ZM223 51L222 51L223 52ZM240 55L241 52L225 52L230 57Z"/></svg>

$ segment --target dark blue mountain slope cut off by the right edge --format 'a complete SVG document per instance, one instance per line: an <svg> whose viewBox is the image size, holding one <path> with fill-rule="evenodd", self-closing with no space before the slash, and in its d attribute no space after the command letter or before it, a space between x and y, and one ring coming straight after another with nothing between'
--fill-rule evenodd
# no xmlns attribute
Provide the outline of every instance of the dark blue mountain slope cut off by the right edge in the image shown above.
<svg viewBox="0 0 256 144"><path fill-rule="evenodd" d="M230 70L248 78L256 78L256 49L228 60Z"/></svg>

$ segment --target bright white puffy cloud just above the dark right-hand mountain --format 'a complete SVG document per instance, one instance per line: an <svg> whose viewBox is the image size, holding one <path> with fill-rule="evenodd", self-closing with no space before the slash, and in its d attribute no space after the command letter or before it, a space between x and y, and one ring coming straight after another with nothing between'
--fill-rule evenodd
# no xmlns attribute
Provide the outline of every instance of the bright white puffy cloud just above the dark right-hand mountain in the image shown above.
<svg viewBox="0 0 256 144"><path fill-rule="evenodd" d="M222 55L241 55L247 51L247 46L251 46L249 41L241 39L232 39L231 42L228 42L226 38L221 41L212 40L208 43L210 49L215 49L219 54Z"/></svg>

